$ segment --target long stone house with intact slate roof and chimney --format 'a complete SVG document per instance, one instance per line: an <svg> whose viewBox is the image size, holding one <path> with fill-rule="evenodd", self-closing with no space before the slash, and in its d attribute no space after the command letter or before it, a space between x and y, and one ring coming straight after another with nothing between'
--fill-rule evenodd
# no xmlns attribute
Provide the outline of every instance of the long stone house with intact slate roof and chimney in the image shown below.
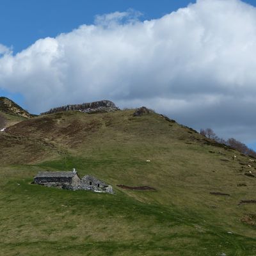
<svg viewBox="0 0 256 256"><path fill-rule="evenodd" d="M81 179L77 175L76 170L73 172L38 172L34 177L35 184L47 187L79 186Z"/></svg>

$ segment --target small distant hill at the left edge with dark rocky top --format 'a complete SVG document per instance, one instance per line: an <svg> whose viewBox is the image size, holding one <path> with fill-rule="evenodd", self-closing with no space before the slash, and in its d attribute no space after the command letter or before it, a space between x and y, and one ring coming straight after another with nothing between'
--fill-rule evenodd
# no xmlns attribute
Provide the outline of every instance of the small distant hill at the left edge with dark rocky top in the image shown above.
<svg viewBox="0 0 256 256"><path fill-rule="evenodd" d="M26 118L31 118L28 111L6 97L0 97L0 128L17 124Z"/></svg>

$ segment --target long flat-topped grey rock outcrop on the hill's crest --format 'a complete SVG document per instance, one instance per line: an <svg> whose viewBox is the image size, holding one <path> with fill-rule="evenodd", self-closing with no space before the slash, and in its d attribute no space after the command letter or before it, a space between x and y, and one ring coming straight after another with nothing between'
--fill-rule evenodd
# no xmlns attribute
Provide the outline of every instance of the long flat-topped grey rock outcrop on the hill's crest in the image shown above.
<svg viewBox="0 0 256 256"><path fill-rule="evenodd" d="M61 111L81 111L84 113L97 113L97 112L111 112L116 111L118 108L110 100L100 100L90 103L67 105L59 108L52 108L47 112L41 113L41 115L52 114Z"/></svg>

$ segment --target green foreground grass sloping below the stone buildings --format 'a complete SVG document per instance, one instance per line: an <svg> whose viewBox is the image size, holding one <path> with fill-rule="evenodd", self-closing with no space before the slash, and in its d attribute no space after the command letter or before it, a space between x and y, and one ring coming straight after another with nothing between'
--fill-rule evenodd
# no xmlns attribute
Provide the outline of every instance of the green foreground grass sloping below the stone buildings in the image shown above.
<svg viewBox="0 0 256 256"><path fill-rule="evenodd" d="M62 191L24 180L8 182L1 202L8 205L1 205L1 255L255 255L255 239L228 234L200 213L143 204L121 191Z"/></svg>

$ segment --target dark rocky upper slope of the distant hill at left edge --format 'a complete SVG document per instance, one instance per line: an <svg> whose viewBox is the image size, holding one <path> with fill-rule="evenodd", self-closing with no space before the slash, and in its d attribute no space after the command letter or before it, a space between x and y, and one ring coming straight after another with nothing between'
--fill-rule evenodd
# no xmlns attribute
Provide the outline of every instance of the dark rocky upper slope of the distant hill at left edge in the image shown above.
<svg viewBox="0 0 256 256"><path fill-rule="evenodd" d="M6 114L22 116L25 118L35 116L29 114L28 111L22 109L19 105L6 97L0 97L0 111Z"/></svg>

